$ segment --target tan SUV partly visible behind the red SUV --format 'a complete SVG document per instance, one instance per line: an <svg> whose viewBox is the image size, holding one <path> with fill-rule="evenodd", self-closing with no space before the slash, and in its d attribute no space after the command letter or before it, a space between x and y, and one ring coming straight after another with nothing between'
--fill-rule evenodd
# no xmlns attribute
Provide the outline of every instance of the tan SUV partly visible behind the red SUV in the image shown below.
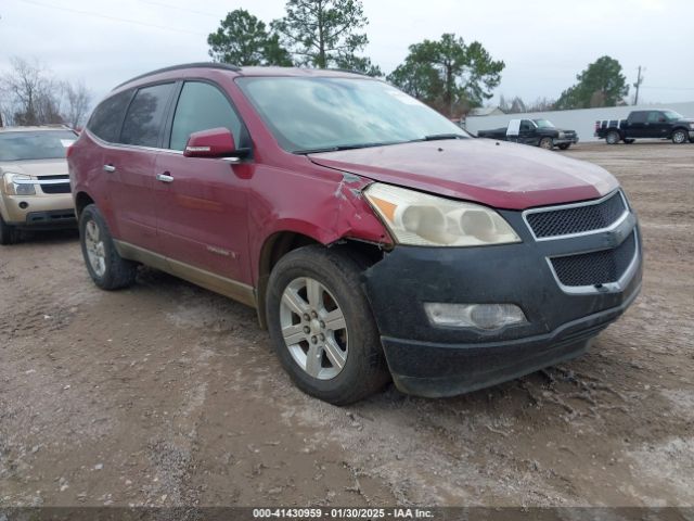
<svg viewBox="0 0 694 521"><path fill-rule="evenodd" d="M65 161L75 139L65 127L0 128L0 244L21 229L76 226Z"/></svg>

